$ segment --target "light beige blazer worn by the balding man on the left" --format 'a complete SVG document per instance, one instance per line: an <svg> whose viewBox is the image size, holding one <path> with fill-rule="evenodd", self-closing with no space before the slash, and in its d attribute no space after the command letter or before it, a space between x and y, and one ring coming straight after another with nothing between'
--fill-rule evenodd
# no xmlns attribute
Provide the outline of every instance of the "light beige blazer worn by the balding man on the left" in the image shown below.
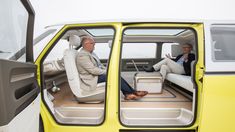
<svg viewBox="0 0 235 132"><path fill-rule="evenodd" d="M81 78L81 89L86 92L96 90L98 75L105 74L106 68L103 65L99 68L92 54L83 48L76 56L76 63Z"/></svg>

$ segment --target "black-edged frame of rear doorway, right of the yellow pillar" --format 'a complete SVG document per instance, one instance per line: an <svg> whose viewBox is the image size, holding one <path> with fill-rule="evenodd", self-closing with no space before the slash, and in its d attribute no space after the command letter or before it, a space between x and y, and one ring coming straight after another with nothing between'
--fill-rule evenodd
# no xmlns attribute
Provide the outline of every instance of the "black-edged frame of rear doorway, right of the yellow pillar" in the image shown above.
<svg viewBox="0 0 235 132"><path fill-rule="evenodd" d="M198 32L193 26L185 26L185 25L182 25L182 26L159 26L157 23L156 23L156 26L145 26L145 24L139 24L139 25L134 25L134 26L123 26L123 29L122 29L122 32L121 32L121 46L120 46L120 56L119 56L119 60L122 60L122 43L123 43L123 36L125 35L124 32L125 30L127 29L148 29L148 28L159 28L159 29L164 29L164 28L167 28L167 29L190 29L192 30L192 32L194 33L195 35L195 64L194 64L194 74L196 73L196 64L198 63L198 58L199 58L199 42L198 42ZM156 42L157 43L157 42ZM160 47L162 48L162 47ZM161 57L161 56L160 56ZM118 74L118 90L120 91L121 88L120 88L120 85L121 85L121 67L122 67L122 61L120 61L119 63L119 74ZM193 126L196 122L196 120L198 119L197 115L198 115L198 86L197 86L197 83L196 83L196 78L195 78L195 75L192 76L192 82L195 86L195 102L193 102L193 109L192 109L192 112L193 112L193 119L192 121L189 123L189 124L186 124L186 125L180 125L180 126L174 126L174 125L159 125L159 126L143 126L143 125L126 125L124 124L122 121L121 121L121 99L120 99L120 92L118 93L118 120L119 120L119 123L124 126L124 127L127 127L127 128L161 128L161 127L176 127L176 128L187 128L187 127L190 127L190 126Z"/></svg>

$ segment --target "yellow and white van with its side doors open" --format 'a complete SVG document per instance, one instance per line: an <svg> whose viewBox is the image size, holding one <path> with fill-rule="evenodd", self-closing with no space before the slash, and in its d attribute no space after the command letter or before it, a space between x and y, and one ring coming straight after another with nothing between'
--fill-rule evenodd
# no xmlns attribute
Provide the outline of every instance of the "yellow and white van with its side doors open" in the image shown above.
<svg viewBox="0 0 235 132"><path fill-rule="evenodd" d="M28 21L1 29L18 34L0 40L8 44L0 52L0 130L37 131L39 124L40 132L235 131L234 21L66 23L48 26L33 41L34 12L22 3L15 2ZM88 94L76 66L84 36L94 39L94 53L107 68L101 90ZM181 54L185 43L195 54L191 75L168 73L163 80L159 71L145 71L166 54ZM126 100L121 78L148 94Z"/></svg>

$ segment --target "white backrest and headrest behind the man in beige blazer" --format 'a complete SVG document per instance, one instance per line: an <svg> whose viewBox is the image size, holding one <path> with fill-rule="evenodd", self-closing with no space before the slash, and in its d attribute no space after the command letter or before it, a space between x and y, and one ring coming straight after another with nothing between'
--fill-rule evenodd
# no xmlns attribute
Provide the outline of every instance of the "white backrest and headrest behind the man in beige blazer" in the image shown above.
<svg viewBox="0 0 235 132"><path fill-rule="evenodd" d="M80 38L76 35L69 37L69 49L64 51L64 66L71 91L76 97L82 97L80 88L80 77L76 65L77 50L73 47L80 45Z"/></svg>

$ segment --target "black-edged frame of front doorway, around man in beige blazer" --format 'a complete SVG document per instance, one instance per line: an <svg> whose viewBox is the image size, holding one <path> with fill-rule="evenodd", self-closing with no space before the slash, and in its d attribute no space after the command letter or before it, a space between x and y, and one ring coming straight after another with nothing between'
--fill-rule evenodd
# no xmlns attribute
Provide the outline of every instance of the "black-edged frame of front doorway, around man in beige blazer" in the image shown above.
<svg viewBox="0 0 235 132"><path fill-rule="evenodd" d="M89 25L89 24L76 24L76 25L65 25L63 26L56 34L55 36L51 39L51 41L45 46L45 48L43 49L42 53L39 55L37 62L40 65L40 84L41 84L41 100L43 102L43 104L45 105L45 107L47 108L47 111L50 113L50 115L52 116L53 120L59 124L59 125L63 125L63 126L102 126L105 121L106 121L106 108L107 108L107 83L105 83L105 99L104 99L104 119L101 123L99 124L69 124L69 123L61 123L59 122L55 115L53 114L53 112L51 111L49 105L47 104L46 100L45 100L45 95L43 90L45 89L45 84L44 84L44 74L43 74L43 63L46 59L46 57L49 55L49 53L51 52L51 50L56 46L56 44L58 43L58 41L64 36L64 34L69 31L69 30L73 30L73 29L82 29L82 28L110 28L113 29L114 34L113 34L113 41L112 41L112 47L110 50L110 54L109 54L109 59L112 55L112 50L113 50L113 43L114 40L116 39L116 33L117 33L117 28L113 25L113 24L97 24L97 25ZM110 66L110 62L108 62L108 66L107 66L107 70L109 69ZM109 76L109 74L106 74L107 78Z"/></svg>

